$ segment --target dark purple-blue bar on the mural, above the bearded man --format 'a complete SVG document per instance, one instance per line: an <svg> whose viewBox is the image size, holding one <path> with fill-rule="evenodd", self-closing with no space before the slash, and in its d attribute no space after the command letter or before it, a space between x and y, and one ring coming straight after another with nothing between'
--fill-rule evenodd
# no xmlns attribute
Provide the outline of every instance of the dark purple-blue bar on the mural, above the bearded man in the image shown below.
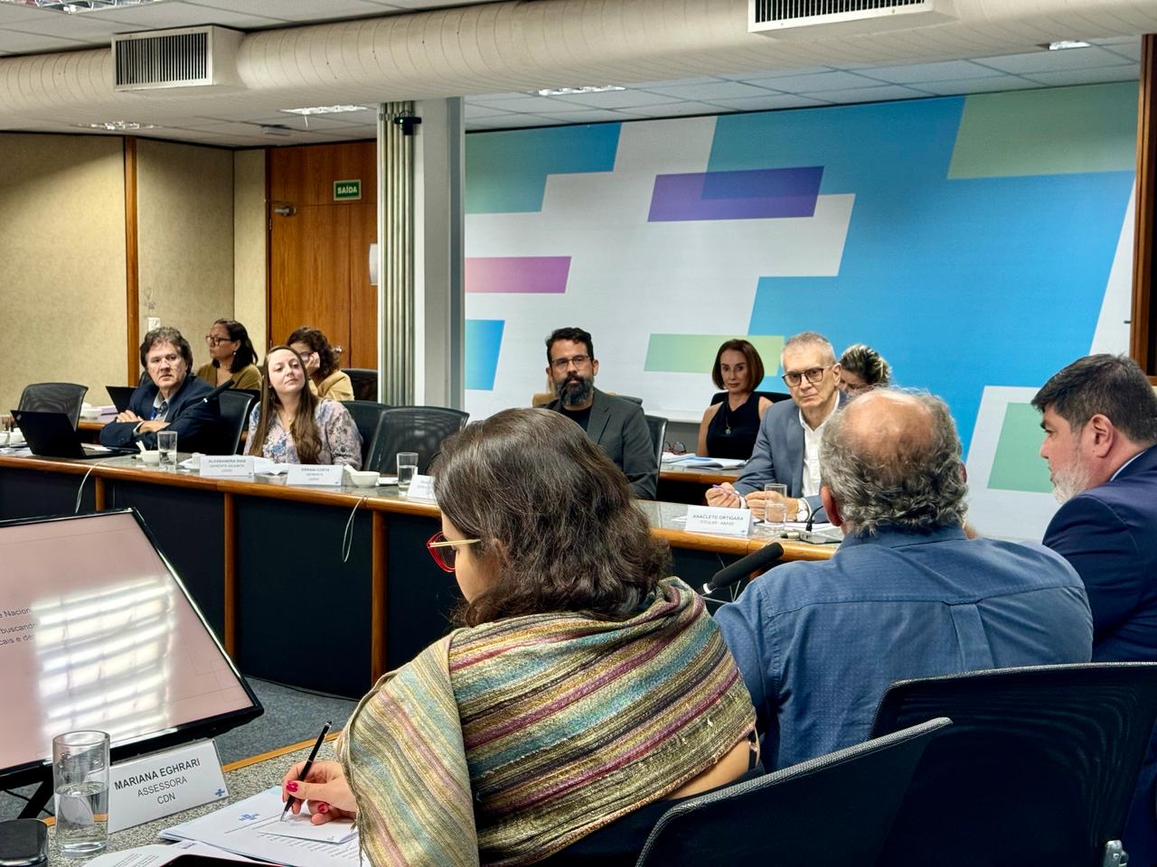
<svg viewBox="0 0 1157 867"><path fill-rule="evenodd" d="M657 175L648 222L809 217L824 166Z"/></svg>

